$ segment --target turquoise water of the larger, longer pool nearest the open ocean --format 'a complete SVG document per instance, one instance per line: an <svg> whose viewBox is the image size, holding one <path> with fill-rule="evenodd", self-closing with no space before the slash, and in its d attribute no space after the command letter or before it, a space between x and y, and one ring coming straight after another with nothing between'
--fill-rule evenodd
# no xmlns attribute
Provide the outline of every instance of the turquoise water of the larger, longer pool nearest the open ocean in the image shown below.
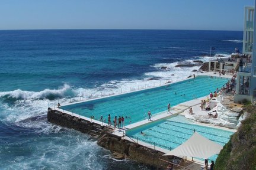
<svg viewBox="0 0 256 170"><path fill-rule="evenodd" d="M71 104L63 106L61 109L86 117L94 116L94 119L97 120L103 116L103 120L107 121L108 114L111 115L111 120L114 116L124 116L127 117L124 120L125 125L129 125L147 119L149 110L152 115L163 112L167 110L168 103L175 106L193 100L194 96L206 96L210 91L215 91L217 87L222 87L227 81L227 79L219 79L219 77L198 76L196 79L180 81L167 86Z"/></svg>

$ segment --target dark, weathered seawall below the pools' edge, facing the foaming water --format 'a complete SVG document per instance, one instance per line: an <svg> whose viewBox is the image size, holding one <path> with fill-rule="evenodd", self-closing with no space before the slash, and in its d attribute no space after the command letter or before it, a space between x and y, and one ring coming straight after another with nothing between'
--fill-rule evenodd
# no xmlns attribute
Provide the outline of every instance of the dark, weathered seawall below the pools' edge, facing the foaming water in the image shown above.
<svg viewBox="0 0 256 170"><path fill-rule="evenodd" d="M123 158L132 159L140 164L151 166L152 169L165 169L167 167L167 163L159 160L159 158L170 162L171 159L174 158L174 156L163 157L163 152L147 148L135 142L123 139L120 136L116 136L110 133L109 129L105 126L101 126L97 123L92 123L84 119L79 119L78 117L74 117L57 110L49 108L47 112L47 120L56 125L75 129L82 133L89 133L92 130L101 129L103 134L98 138L98 145L110 150L111 153L117 153L118 155L123 156Z"/></svg>

